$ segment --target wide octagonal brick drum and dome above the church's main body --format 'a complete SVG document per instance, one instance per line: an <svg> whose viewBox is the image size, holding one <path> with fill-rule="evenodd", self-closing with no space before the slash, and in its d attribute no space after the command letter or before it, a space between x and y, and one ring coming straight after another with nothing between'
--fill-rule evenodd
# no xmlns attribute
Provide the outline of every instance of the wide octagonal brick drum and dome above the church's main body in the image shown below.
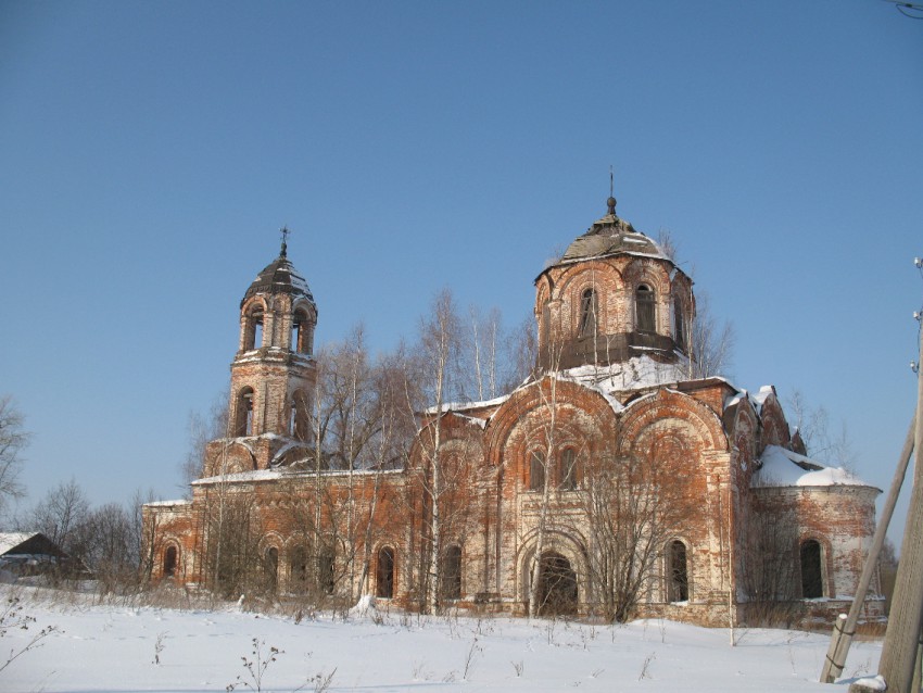
<svg viewBox="0 0 923 693"><path fill-rule="evenodd" d="M539 368L688 358L692 279L654 240L607 214L535 279Z"/></svg>

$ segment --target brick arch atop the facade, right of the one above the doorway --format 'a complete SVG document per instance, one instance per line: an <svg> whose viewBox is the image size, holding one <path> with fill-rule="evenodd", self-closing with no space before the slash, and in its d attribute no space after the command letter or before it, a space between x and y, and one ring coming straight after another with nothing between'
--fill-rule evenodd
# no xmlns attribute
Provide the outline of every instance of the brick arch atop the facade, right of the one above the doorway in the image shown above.
<svg viewBox="0 0 923 693"><path fill-rule="evenodd" d="M728 451L728 437L721 421L705 404L673 390L661 389L655 394L635 400L622 414L619 454L632 452L635 441L656 424L680 420L685 431L694 434L703 450Z"/></svg>

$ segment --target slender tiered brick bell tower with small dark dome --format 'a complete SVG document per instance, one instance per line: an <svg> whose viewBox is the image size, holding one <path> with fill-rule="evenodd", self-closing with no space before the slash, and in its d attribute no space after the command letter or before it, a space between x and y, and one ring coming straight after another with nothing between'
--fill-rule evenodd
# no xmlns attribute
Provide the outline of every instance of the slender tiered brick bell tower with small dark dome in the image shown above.
<svg viewBox="0 0 923 693"><path fill-rule="evenodd" d="M288 234L283 228L279 256L240 302L227 433L208 445L205 476L268 469L307 455L317 305L289 262Z"/></svg>

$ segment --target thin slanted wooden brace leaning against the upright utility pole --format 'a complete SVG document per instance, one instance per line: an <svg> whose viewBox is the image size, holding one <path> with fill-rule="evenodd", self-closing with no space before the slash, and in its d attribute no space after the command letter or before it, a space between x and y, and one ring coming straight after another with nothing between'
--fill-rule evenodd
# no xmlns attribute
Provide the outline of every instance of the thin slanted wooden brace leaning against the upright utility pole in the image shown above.
<svg viewBox="0 0 923 693"><path fill-rule="evenodd" d="M865 557L865 565L862 567L859 584L856 587L852 605L849 607L849 615L845 621L842 618L837 618L836 623L834 623L833 635L830 640L830 650L827 650L823 670L821 671L821 683L833 683L843 673L846 656L849 654L849 646L852 644L852 635L856 633L856 623L859 622L862 605L865 603L865 595L869 592L869 584L871 584L872 577L877 570L878 556L885 543L885 534L890 525L897 499L900 495L900 487L903 486L903 478L907 476L907 467L910 464L910 455L913 452L913 440L915 437L916 415L914 414L913 418L910 419L910 427L907 431L907 438L903 441L903 449L900 451L900 458L897 462L897 469L894 472L888 497L882 508L882 516L878 518L878 526L875 528L872 545L869 549L869 555ZM840 614L840 616L843 615Z"/></svg>

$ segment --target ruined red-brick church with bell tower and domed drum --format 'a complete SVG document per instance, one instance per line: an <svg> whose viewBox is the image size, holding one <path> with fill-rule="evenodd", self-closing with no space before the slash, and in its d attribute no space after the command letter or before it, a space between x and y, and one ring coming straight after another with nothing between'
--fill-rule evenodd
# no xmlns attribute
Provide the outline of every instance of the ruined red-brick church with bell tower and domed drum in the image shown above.
<svg viewBox="0 0 923 693"><path fill-rule="evenodd" d="M609 198L534 284L530 379L423 412L399 468L331 468L317 305L283 242L240 303L228 434L191 500L144 507L152 579L711 626L848 608L880 491L810 459L772 387L697 375L693 282L663 249Z"/></svg>

